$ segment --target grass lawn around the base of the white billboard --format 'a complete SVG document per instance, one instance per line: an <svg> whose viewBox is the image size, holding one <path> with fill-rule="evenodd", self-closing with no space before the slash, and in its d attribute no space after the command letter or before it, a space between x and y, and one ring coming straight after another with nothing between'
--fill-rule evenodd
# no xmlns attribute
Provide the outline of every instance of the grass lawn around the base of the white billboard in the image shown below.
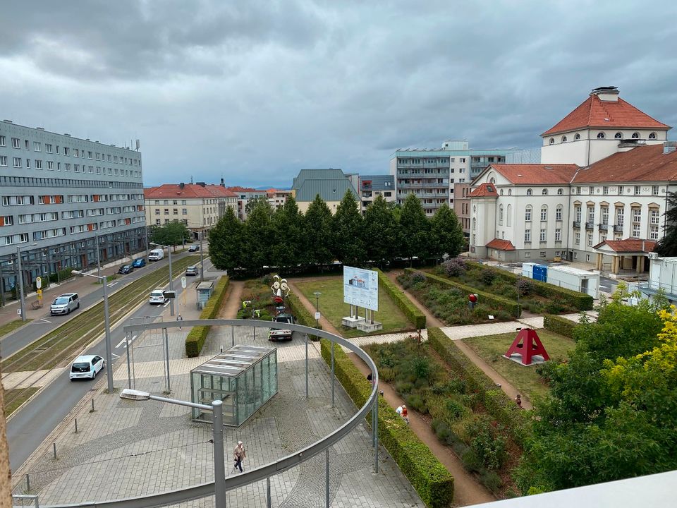
<svg viewBox="0 0 677 508"><path fill-rule="evenodd" d="M362 337L365 332L355 328L341 325L341 318L350 315L350 306L343 303L343 278L317 279L309 282L295 282L296 287L315 305L315 291L320 291L319 311L327 317L343 337ZM360 310L364 315L364 310ZM379 286L379 310L374 313L374 321L383 323L383 329L376 334L396 332L403 329L413 329L414 325L409 322L402 311L390 299L383 286Z"/></svg>

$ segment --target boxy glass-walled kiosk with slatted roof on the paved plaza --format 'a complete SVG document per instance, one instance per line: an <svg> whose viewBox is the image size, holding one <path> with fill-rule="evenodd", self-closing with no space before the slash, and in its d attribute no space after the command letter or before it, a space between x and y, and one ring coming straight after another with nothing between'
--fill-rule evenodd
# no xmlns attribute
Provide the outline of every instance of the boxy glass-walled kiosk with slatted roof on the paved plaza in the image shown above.
<svg viewBox="0 0 677 508"><path fill-rule="evenodd" d="M224 425L239 427L277 393L277 349L240 344L190 371L191 400L223 401ZM212 412L193 409L193 421Z"/></svg>

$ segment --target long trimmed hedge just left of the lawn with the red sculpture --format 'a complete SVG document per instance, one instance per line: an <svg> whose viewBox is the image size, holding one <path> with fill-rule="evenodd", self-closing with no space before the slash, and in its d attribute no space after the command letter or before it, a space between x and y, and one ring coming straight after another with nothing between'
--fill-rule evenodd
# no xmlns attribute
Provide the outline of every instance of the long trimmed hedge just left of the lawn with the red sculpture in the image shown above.
<svg viewBox="0 0 677 508"><path fill-rule="evenodd" d="M441 329L428 329L428 343L452 370L463 377L468 388L480 395L489 416L505 425L513 440L523 446L529 435L529 424L517 404L503 390L497 388L496 383L482 369L469 361Z"/></svg>

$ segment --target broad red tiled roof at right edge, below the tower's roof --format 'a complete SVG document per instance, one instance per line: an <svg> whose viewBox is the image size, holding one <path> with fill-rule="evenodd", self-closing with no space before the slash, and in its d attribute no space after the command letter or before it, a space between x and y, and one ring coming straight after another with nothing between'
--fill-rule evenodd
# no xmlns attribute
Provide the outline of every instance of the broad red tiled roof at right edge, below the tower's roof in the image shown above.
<svg viewBox="0 0 677 508"><path fill-rule="evenodd" d="M645 145L629 152L617 152L581 169L574 183L675 181L677 151L663 153L663 145Z"/></svg>

